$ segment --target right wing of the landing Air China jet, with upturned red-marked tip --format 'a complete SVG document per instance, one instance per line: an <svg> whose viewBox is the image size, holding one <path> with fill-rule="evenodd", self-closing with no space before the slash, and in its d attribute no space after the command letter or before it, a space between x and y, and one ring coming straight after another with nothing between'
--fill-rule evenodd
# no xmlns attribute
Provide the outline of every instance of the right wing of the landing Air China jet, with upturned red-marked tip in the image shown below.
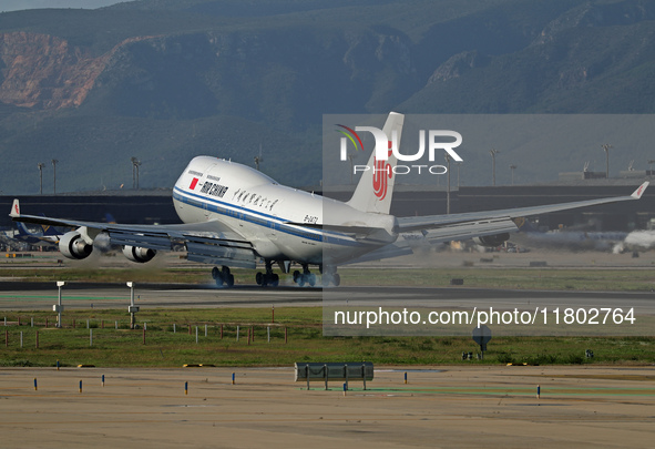
<svg viewBox="0 0 655 449"><path fill-rule="evenodd" d="M398 217L398 227L399 232L428 229L428 238L433 243L502 234L515 232L518 229L513 218L546 214L549 212L566 211L570 208L594 206L598 204L638 200L642 197L647 186L648 182L645 182L639 185L632 195L627 196L585 200L543 206L505 208L499 211L469 212L463 214Z"/></svg>

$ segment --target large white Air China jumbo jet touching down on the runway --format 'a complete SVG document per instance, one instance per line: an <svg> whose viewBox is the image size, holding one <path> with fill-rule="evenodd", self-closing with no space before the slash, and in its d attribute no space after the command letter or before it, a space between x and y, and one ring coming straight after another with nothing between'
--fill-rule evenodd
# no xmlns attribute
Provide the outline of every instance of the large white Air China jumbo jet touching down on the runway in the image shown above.
<svg viewBox="0 0 655 449"><path fill-rule="evenodd" d="M391 112L382 132L396 133L400 145L405 115ZM390 142L391 144L391 142ZM375 151L369 167L364 171L352 197L340 202L314 193L280 185L264 173L235 162L214 156L194 157L173 188L173 203L183 224L129 225L94 223L23 215L12 208L12 220L55 226L71 226L59 243L61 253L72 259L89 257L94 239L109 238L111 245L122 246L130 261L146 263L157 251L171 251L184 245L187 259L215 265L212 276L218 286L234 285L231 267L256 268L264 261L265 272L255 280L260 286L277 286L277 264L299 286L316 285L310 265L318 266L323 285L340 284L339 265L411 254L400 234L430 233L430 241L449 242L474 237L484 246L498 246L518 229L512 218L544 214L591 205L638 200L647 182L632 195L606 197L543 206L519 207L450 215L396 217L389 214L397 160L391 154L382 176L387 194L379 195L379 167ZM373 185L376 184L376 185ZM221 267L219 267L221 266Z"/></svg>

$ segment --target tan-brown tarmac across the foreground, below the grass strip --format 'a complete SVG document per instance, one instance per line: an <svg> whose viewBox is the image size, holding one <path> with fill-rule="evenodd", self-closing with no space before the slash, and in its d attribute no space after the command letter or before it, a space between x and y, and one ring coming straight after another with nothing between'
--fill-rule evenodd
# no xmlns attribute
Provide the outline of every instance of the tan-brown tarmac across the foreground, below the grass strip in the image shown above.
<svg viewBox="0 0 655 449"><path fill-rule="evenodd" d="M376 367L367 390L350 381L346 395L341 382L307 390L294 378L293 367L2 368L0 447L598 449L655 438L653 367Z"/></svg>

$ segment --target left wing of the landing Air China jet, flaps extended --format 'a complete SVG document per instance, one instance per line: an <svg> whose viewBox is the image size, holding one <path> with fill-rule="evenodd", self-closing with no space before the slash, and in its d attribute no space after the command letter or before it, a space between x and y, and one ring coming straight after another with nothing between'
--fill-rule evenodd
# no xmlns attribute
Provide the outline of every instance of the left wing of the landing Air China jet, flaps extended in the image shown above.
<svg viewBox="0 0 655 449"><path fill-rule="evenodd" d="M14 201L16 204L16 201ZM255 268L256 255L250 242L217 221L180 225L126 225L22 215L12 206L14 222L75 227L78 232L109 235L111 245L127 245L155 251L171 251L184 244L188 261L242 268Z"/></svg>

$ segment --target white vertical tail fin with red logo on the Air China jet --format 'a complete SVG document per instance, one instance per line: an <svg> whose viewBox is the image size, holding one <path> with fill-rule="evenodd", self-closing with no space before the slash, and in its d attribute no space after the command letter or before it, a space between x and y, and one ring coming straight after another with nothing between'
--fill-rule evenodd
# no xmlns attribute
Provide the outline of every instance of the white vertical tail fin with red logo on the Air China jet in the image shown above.
<svg viewBox="0 0 655 449"><path fill-rule="evenodd" d="M391 208L391 196L396 174L393 169L398 162L391 152L393 145L397 150L400 146L400 136L405 115L390 112L382 132L388 139L388 159L378 161L376 149L368 161L368 169L361 174L359 184L355 188L348 205L362 212L388 214Z"/></svg>

